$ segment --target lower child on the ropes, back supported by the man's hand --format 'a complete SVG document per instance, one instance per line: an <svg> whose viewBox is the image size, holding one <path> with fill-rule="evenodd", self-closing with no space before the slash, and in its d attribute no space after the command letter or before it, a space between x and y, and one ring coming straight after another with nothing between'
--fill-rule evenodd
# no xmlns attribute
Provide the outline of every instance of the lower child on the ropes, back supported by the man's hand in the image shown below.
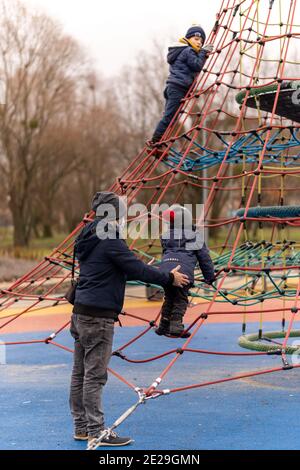
<svg viewBox="0 0 300 470"><path fill-rule="evenodd" d="M163 220L168 230L161 237L163 253L160 270L169 272L180 265L180 271L188 276L190 284L183 288L165 289L161 319L155 332L160 336L189 337L189 332L183 334L183 317L188 307L189 289L194 284L195 267L198 263L205 282L211 285L215 280L214 264L187 208L174 204L163 213Z"/></svg>

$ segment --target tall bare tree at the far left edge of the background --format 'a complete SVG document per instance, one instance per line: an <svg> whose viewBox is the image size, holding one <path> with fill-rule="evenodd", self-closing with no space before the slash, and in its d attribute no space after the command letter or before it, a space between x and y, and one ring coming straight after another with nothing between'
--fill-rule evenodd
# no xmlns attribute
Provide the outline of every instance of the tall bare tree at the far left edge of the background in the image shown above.
<svg viewBox="0 0 300 470"><path fill-rule="evenodd" d="M17 0L1 1L0 168L10 198L15 245L29 242L45 136L65 114L65 96L75 95L83 67L77 43L59 24L29 13Z"/></svg>

